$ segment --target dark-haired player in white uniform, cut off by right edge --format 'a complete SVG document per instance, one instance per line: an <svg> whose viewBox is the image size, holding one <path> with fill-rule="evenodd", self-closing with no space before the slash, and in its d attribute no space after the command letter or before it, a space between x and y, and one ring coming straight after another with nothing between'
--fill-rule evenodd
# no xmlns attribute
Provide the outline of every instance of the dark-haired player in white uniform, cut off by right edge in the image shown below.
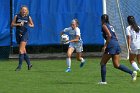
<svg viewBox="0 0 140 93"><path fill-rule="evenodd" d="M129 24L126 28L129 61L132 67L138 72L138 75L140 75L140 68L135 61L135 58L137 58L137 62L140 64L140 27L133 16L128 16L127 22Z"/></svg>

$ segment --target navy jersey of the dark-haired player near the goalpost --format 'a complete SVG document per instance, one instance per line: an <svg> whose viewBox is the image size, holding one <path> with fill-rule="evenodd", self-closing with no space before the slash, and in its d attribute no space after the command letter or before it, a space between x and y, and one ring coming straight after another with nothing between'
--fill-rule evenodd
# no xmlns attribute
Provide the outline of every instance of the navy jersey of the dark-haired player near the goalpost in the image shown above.
<svg viewBox="0 0 140 93"><path fill-rule="evenodd" d="M119 46L118 39L116 37L115 30L114 30L113 26L111 26L110 24L105 24L105 25L107 26L108 30L111 33L111 39L107 45L107 48ZM104 39L106 40L107 35L103 29L102 29L102 35L103 35Z"/></svg>

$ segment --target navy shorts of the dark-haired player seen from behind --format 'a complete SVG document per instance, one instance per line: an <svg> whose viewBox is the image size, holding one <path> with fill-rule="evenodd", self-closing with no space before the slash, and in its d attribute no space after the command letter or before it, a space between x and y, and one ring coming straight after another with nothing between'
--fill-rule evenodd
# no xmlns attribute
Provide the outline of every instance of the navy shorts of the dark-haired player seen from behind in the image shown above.
<svg viewBox="0 0 140 93"><path fill-rule="evenodd" d="M111 54L111 55L120 54L121 53L121 48L120 48L120 46L113 46L113 47L110 47L110 48L106 48L105 53L106 54Z"/></svg>

